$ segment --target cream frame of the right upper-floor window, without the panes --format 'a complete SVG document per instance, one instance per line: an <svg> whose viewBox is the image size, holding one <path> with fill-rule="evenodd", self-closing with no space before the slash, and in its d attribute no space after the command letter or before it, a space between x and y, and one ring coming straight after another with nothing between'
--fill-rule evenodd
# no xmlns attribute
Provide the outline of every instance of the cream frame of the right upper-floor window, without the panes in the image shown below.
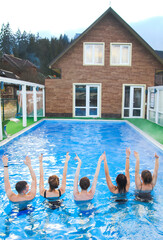
<svg viewBox="0 0 163 240"><path fill-rule="evenodd" d="M113 45L119 45L120 46L120 58L119 58L119 63L112 63L112 46ZM122 48L123 46L128 46L129 51L128 51L128 63L122 63ZM117 42L112 42L110 43L110 66L123 66L123 67L128 67L131 66L132 64L132 43L117 43Z"/></svg>

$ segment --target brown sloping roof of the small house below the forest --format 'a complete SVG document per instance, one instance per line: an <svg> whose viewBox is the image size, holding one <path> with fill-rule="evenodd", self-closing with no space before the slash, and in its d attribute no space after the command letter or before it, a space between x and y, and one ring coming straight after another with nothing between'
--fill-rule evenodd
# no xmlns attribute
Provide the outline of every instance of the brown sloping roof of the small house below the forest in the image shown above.
<svg viewBox="0 0 163 240"><path fill-rule="evenodd" d="M18 68L19 70L22 70L24 68L37 68L33 63L31 63L29 60L21 59L14 57L12 55L4 54L2 56L2 59L10 63L13 67Z"/></svg>

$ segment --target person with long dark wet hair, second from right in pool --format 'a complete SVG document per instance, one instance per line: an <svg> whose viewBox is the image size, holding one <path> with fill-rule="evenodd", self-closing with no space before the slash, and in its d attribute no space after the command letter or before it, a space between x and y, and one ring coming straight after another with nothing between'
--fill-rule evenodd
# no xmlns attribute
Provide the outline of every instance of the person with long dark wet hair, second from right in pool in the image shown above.
<svg viewBox="0 0 163 240"><path fill-rule="evenodd" d="M109 168L107 165L107 160L106 160L106 154L104 155L104 169L105 169L105 176L106 176L106 182L108 185L109 190L112 193L126 193L129 190L130 187L130 173L129 173L129 157L130 157L130 148L126 148L126 166L125 166L125 175L124 174L118 174L116 177L116 183L117 186L115 186L110 178L109 175Z"/></svg>

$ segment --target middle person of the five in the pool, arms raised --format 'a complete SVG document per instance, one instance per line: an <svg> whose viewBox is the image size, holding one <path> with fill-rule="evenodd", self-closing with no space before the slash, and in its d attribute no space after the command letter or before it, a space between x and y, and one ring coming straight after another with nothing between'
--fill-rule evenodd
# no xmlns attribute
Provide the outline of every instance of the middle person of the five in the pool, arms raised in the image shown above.
<svg viewBox="0 0 163 240"><path fill-rule="evenodd" d="M102 160L104 160L104 153L100 156L100 158L98 160L98 164L97 164L96 172L95 172L95 175L94 175L94 180L93 180L93 183L92 183L92 187L89 191L87 191L87 190L90 186L90 180L87 177L82 177L80 179L79 185L81 187L81 192L79 192L79 190L78 190L78 179L79 179L79 173L80 173L80 167L81 167L81 160L80 160L80 158L78 157L77 154L76 154L75 160L78 161L78 166L77 166L77 169L76 169L75 180L74 180L74 190L73 190L74 199L76 201L91 200L91 199L93 199L94 194L95 194L101 162L102 162Z"/></svg>

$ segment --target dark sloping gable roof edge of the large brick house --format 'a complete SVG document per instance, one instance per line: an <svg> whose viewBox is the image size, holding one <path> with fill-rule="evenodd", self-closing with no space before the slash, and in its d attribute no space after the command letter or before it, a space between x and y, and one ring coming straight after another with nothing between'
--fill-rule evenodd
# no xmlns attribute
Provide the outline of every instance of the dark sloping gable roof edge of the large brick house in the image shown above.
<svg viewBox="0 0 163 240"><path fill-rule="evenodd" d="M61 52L50 64L49 68L56 63L66 52L69 51L84 35L86 35L97 23L99 23L107 14L112 14L134 37L161 63L163 59L154 51L154 49L131 28L111 7L108 8L93 24L91 24L81 35L79 35L63 52Z"/></svg>

